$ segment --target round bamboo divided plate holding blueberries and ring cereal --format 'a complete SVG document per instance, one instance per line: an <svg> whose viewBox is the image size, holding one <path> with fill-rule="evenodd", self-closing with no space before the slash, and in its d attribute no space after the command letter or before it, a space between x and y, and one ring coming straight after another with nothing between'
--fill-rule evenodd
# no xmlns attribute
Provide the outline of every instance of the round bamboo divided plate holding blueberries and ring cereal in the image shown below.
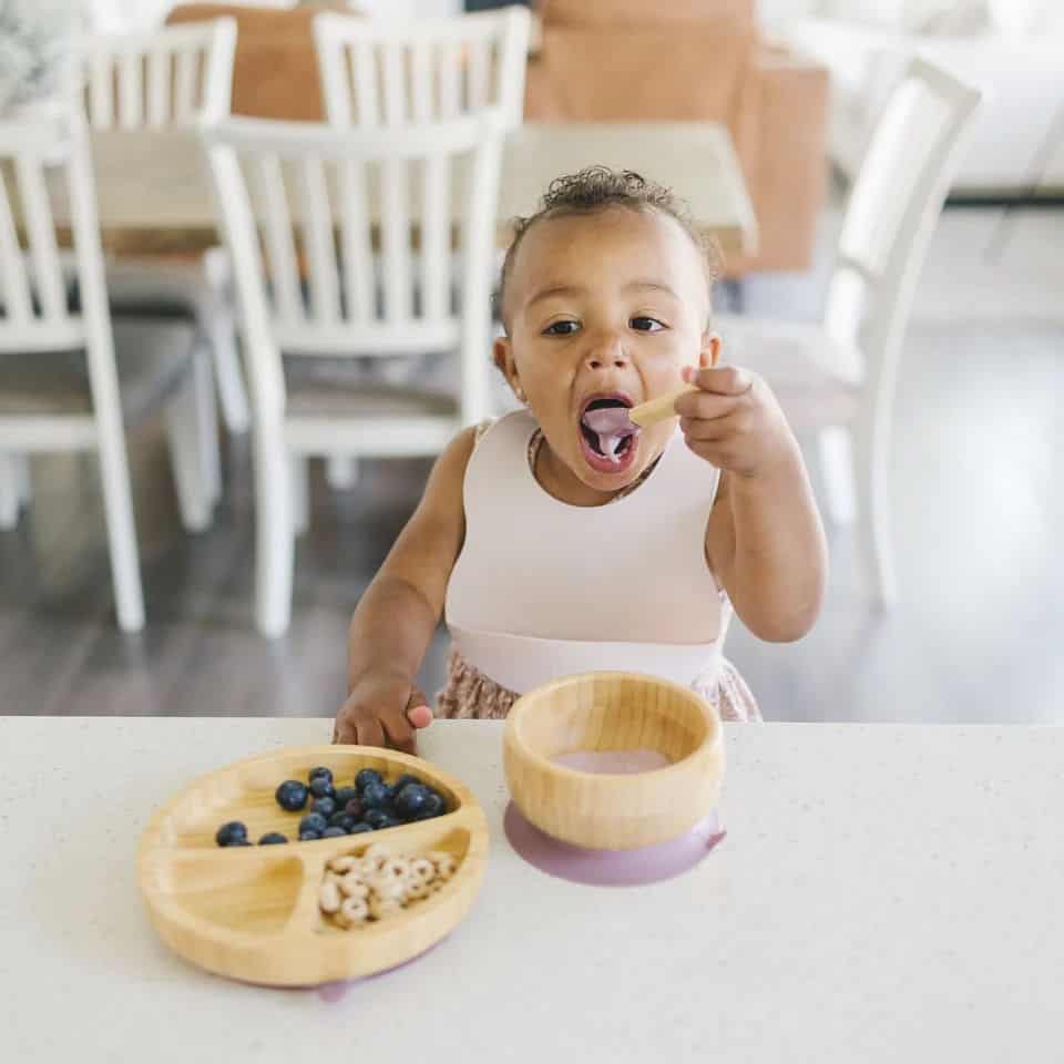
<svg viewBox="0 0 1064 1064"><path fill-rule="evenodd" d="M362 768L386 779L409 773L444 797L444 816L383 831L221 848L217 828L243 820L248 838L282 831L298 838L306 814L286 812L278 784L307 779L316 765L347 785ZM309 807L308 807L309 808ZM431 898L362 928L344 930L318 908L325 866L375 842L396 853L453 855L458 870ZM152 817L141 836L137 871L155 930L181 956L231 979L311 986L395 968L430 949L469 911L483 879L488 825L472 792L417 757L359 746L287 748L237 761L196 780Z"/></svg>

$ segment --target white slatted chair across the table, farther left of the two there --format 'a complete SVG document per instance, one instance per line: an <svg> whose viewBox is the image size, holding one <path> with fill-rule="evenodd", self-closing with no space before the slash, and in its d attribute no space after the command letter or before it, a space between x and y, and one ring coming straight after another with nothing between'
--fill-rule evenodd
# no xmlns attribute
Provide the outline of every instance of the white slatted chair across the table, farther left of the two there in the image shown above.
<svg viewBox="0 0 1064 1064"><path fill-rule="evenodd" d="M84 102L96 130L191 129L229 113L236 22L163 27L84 42ZM108 288L117 314L192 314L214 358L222 415L229 432L247 430L248 406L236 347L232 282L221 248L186 265L113 259Z"/></svg>

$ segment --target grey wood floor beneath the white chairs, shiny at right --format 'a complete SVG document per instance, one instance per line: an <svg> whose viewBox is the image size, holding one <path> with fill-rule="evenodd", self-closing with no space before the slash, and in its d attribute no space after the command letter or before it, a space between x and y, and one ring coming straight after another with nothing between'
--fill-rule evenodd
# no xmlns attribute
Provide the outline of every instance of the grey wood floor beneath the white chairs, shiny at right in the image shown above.
<svg viewBox="0 0 1064 1064"><path fill-rule="evenodd" d="M790 646L741 631L729 656L787 720L1064 722L1064 335L924 327L907 346L893 463L902 601L868 608L848 533L827 606ZM114 627L92 462L33 462L34 502L0 532L0 712L321 715L344 688L350 611L427 467L366 463L349 492L313 472L287 637L250 617L246 446L228 447L209 531L180 528L162 436L131 439L147 627ZM442 676L441 636L423 669Z"/></svg>

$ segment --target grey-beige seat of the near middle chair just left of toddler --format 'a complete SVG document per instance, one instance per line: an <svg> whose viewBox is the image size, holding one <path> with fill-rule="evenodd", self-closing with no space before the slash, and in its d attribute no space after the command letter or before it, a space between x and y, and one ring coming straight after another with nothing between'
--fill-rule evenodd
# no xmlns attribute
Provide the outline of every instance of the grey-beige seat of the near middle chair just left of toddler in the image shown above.
<svg viewBox="0 0 1064 1064"><path fill-rule="evenodd" d="M350 358L285 357L289 418L456 418L446 391L382 381L377 365Z"/></svg>

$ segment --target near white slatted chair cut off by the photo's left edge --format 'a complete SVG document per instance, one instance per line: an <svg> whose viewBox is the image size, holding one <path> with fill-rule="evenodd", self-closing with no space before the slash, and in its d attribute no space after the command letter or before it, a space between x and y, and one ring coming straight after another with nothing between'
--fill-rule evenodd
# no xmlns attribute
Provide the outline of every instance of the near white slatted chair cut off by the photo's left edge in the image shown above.
<svg viewBox="0 0 1064 1064"><path fill-rule="evenodd" d="M188 342L187 326L129 323L112 331L80 114L0 122L0 526L12 528L28 500L28 454L98 451L119 625L136 632L144 604L124 430L165 407L182 518L204 528L217 448L209 364ZM71 204L78 310L53 223L54 170Z"/></svg>

